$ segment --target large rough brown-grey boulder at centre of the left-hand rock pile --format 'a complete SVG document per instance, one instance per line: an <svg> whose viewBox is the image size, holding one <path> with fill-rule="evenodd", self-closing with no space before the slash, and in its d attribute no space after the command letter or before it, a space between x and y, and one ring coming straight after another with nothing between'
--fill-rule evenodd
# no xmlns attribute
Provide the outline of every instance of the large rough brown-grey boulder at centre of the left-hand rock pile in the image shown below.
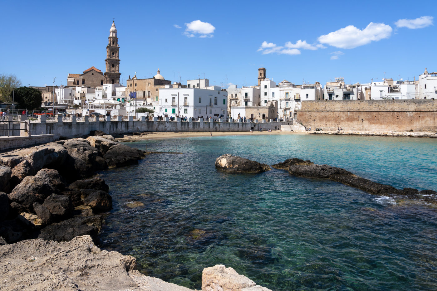
<svg viewBox="0 0 437 291"><path fill-rule="evenodd" d="M60 194L64 187L65 183L58 171L42 169L35 176L25 177L8 197L31 212L35 202L42 203L51 194Z"/></svg>

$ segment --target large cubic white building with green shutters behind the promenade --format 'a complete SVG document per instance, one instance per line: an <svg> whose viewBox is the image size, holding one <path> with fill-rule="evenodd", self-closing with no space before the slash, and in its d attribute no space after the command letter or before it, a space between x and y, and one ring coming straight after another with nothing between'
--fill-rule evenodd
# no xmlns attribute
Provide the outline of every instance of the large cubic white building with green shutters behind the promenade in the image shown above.
<svg viewBox="0 0 437 291"><path fill-rule="evenodd" d="M159 93L160 105L155 112L160 116L228 118L226 91L168 86L160 89Z"/></svg>

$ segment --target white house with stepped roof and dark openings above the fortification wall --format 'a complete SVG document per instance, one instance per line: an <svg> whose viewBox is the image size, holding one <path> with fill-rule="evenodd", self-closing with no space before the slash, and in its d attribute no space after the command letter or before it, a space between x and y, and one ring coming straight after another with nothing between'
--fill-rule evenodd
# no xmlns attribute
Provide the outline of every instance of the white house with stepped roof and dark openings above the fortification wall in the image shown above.
<svg viewBox="0 0 437 291"><path fill-rule="evenodd" d="M344 78L335 78L334 82L326 82L322 99L326 100L364 100L364 91L360 83L347 85Z"/></svg>

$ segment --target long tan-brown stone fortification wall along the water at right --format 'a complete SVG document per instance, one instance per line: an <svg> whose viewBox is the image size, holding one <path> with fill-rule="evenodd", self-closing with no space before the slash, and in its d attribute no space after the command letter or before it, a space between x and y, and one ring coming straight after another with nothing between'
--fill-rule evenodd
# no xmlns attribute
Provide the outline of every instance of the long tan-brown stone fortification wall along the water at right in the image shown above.
<svg viewBox="0 0 437 291"><path fill-rule="evenodd" d="M323 130L437 131L436 100L303 101L298 121Z"/></svg>

